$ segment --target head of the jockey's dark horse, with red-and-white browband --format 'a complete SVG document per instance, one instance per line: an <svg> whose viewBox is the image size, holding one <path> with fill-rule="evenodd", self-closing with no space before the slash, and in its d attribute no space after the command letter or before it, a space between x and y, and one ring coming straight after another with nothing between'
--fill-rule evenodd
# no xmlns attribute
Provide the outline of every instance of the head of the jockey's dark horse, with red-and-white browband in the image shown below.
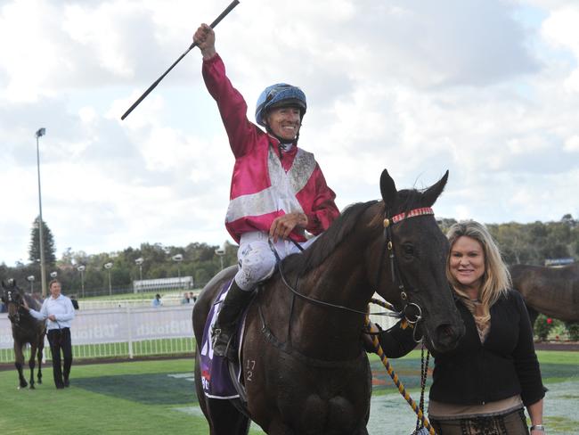
<svg viewBox="0 0 579 435"><path fill-rule="evenodd" d="M386 169L380 177L386 255L378 292L409 321L418 321L425 345L439 352L456 347L464 333L445 275L449 244L431 209L447 179L448 171L424 191L398 192Z"/></svg>

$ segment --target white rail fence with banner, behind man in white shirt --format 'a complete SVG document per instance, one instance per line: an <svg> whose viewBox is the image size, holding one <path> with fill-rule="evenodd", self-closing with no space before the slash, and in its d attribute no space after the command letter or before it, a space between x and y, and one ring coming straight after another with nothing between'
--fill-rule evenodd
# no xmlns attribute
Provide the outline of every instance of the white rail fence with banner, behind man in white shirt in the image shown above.
<svg viewBox="0 0 579 435"><path fill-rule="evenodd" d="M76 358L192 353L192 305L78 310L70 334ZM12 326L0 315L0 362L13 362ZM50 349L45 341L50 359Z"/></svg>

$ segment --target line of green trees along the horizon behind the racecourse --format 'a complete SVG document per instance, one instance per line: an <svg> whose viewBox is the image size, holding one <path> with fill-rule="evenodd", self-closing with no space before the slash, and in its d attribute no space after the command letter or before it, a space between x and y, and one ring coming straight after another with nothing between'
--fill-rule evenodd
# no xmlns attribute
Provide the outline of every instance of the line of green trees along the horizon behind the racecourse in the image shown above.
<svg viewBox="0 0 579 435"><path fill-rule="evenodd" d="M438 225L445 233L456 223L453 218L443 218ZM545 259L579 259L579 221L567 214L559 221L529 224L510 222L486 225L502 251L507 264L544 265ZM221 247L204 242L191 242L184 247L164 246L161 243L142 243L138 248L126 248L112 253L87 254L83 250L65 250L61 258L55 255L55 243L50 228L43 223L46 272L56 272L64 291L85 295L107 294L110 285L115 292L131 291L132 283L141 279L192 276L196 288L202 287L223 267L237 263L237 245L225 243L224 255L216 255ZM0 278L17 280L21 288L34 286L40 292L40 246L38 218L30 232L29 262L15 267L0 264ZM219 252L221 253L221 252ZM175 261L177 255L182 261ZM139 265L135 260L143 259ZM112 263L110 269L104 265ZM84 266L81 273L79 266ZM110 275L109 275L110 273ZM33 283L27 277L34 276ZM50 276L47 276L50 279ZM28 288L26 286L29 286Z"/></svg>

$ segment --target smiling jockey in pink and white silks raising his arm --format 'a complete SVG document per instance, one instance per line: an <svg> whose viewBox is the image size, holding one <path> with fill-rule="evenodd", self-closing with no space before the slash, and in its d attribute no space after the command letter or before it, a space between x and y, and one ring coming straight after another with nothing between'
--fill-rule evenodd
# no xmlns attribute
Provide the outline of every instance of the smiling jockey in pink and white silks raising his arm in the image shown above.
<svg viewBox="0 0 579 435"><path fill-rule="evenodd" d="M273 275L279 258L306 248L338 217L335 193L326 185L314 154L298 147L306 113L306 95L279 83L257 100L256 121L247 118L247 103L225 75L215 48L215 33L201 24L193 36L203 55L203 78L229 137L235 165L225 227L240 244L240 269L232 281L212 329L214 353L235 358L228 344L238 317L260 281Z"/></svg>

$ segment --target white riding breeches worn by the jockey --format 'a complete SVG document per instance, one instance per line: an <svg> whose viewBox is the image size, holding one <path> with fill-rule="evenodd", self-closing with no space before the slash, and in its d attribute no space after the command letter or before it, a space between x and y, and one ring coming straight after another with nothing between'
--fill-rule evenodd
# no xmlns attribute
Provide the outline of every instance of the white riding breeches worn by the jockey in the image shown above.
<svg viewBox="0 0 579 435"><path fill-rule="evenodd" d="M241 234L240 249L237 251L240 269L235 275L235 283L243 291L252 291L257 283L273 275L275 254L267 239L268 234L261 231ZM315 237L300 245L306 249L314 240ZM290 240L278 239L272 244L280 259L301 252Z"/></svg>

